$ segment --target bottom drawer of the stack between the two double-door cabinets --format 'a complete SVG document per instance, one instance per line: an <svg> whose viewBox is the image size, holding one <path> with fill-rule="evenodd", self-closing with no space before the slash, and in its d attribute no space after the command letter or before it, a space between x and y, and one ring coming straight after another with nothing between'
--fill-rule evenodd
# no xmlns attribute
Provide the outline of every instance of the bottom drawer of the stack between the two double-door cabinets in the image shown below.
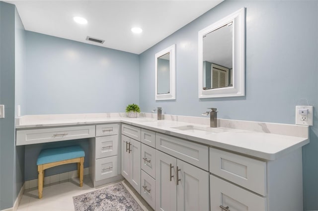
<svg viewBox="0 0 318 211"><path fill-rule="evenodd" d="M145 171L141 171L141 196L155 210L156 208L156 180Z"/></svg>

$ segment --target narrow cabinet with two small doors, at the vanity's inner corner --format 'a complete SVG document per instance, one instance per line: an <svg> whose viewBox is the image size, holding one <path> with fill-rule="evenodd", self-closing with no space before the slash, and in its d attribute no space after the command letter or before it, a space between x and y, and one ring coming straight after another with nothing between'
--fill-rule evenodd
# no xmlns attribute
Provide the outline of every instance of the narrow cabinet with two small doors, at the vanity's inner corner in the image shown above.
<svg viewBox="0 0 318 211"><path fill-rule="evenodd" d="M122 124L121 135L121 174L141 193L141 129ZM139 140L135 140L139 139Z"/></svg>

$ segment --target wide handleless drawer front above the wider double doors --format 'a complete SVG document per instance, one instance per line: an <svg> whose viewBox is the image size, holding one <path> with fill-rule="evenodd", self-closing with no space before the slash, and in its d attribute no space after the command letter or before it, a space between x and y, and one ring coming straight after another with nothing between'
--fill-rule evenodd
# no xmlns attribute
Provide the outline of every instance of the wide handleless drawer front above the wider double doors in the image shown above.
<svg viewBox="0 0 318 211"><path fill-rule="evenodd" d="M156 149L209 170L209 147L156 133Z"/></svg>

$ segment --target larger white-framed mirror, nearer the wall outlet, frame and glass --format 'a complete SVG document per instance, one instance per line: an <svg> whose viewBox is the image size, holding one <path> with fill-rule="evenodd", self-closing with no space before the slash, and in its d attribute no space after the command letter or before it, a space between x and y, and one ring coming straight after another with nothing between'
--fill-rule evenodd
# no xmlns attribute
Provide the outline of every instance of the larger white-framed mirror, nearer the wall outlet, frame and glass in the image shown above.
<svg viewBox="0 0 318 211"><path fill-rule="evenodd" d="M198 33L199 98L245 95L245 8Z"/></svg>

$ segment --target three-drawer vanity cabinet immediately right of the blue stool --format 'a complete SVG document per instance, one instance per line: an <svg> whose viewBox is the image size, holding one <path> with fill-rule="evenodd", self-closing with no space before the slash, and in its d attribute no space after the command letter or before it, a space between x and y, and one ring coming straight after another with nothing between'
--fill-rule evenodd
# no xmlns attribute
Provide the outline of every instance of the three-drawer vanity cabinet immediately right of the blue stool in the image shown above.
<svg viewBox="0 0 318 211"><path fill-rule="evenodd" d="M94 187L106 184L120 174L119 124L96 125L96 135L99 137L89 141L89 175Z"/></svg>

